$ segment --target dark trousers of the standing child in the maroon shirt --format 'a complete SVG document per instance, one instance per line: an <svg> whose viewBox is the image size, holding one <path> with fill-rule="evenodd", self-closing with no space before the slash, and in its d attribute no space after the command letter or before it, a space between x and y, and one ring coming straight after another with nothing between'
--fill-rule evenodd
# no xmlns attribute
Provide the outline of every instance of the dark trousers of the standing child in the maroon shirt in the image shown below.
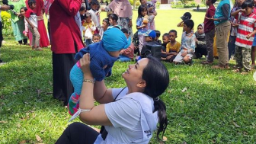
<svg viewBox="0 0 256 144"><path fill-rule="evenodd" d="M207 50L207 61L213 62L213 38L215 36L215 31L210 30L206 33L206 50Z"/></svg>

